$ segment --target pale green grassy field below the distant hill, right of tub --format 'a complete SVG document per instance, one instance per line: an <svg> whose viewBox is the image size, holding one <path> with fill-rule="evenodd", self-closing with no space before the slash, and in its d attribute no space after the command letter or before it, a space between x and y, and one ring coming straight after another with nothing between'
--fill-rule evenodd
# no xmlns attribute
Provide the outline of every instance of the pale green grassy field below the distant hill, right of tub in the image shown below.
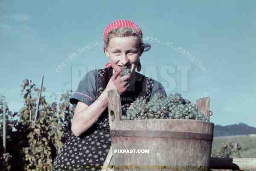
<svg viewBox="0 0 256 171"><path fill-rule="evenodd" d="M220 150L221 143L239 143L241 145L241 155L244 158L256 158L256 135L235 135L214 137L212 150Z"/></svg>

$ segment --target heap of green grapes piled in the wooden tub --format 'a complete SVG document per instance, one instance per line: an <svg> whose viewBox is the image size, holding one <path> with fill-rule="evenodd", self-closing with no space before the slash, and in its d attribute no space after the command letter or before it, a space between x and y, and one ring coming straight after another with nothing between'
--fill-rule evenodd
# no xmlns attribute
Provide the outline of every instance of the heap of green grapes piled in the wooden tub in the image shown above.
<svg viewBox="0 0 256 171"><path fill-rule="evenodd" d="M158 92L148 103L143 98L135 100L122 119L195 119L209 121L203 113L198 111L195 104L192 104L189 99L182 98L181 94L174 93L164 97Z"/></svg>

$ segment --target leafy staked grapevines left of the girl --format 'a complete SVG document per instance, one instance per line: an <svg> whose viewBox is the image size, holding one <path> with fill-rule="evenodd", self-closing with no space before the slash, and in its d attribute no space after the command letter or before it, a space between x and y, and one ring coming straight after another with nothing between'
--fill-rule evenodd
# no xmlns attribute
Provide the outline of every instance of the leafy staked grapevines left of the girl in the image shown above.
<svg viewBox="0 0 256 171"><path fill-rule="evenodd" d="M6 105L6 151L3 149L3 119L0 120L0 168L8 171L49 171L54 158L70 133L74 108L68 101L72 91L63 92L49 104L44 96L39 100L38 118L34 122L38 89L31 80L21 85L23 107L11 112ZM3 96L0 98L0 117L3 118Z"/></svg>

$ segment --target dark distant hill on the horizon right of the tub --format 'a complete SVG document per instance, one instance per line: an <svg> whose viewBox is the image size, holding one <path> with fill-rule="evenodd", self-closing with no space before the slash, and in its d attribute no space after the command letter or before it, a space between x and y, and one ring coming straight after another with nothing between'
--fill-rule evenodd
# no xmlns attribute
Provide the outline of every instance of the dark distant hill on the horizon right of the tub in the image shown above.
<svg viewBox="0 0 256 171"><path fill-rule="evenodd" d="M256 128L248 126L245 123L238 123L227 126L215 125L214 136L230 136L230 135L248 135L256 134Z"/></svg>

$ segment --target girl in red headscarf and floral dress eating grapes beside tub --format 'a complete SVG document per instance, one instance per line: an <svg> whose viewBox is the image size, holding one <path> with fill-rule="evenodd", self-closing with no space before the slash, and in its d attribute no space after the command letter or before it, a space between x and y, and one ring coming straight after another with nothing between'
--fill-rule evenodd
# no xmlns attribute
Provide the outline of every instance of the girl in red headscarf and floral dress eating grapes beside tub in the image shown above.
<svg viewBox="0 0 256 171"><path fill-rule="evenodd" d="M104 30L104 69L89 71L70 98L76 105L72 132L53 164L53 171L100 171L111 146L108 126L108 90L117 90L123 115L137 98L149 101L157 92L166 96L163 85L138 72L140 56L151 48L143 43L140 27L130 20L117 20ZM130 72L121 76L124 67Z"/></svg>

